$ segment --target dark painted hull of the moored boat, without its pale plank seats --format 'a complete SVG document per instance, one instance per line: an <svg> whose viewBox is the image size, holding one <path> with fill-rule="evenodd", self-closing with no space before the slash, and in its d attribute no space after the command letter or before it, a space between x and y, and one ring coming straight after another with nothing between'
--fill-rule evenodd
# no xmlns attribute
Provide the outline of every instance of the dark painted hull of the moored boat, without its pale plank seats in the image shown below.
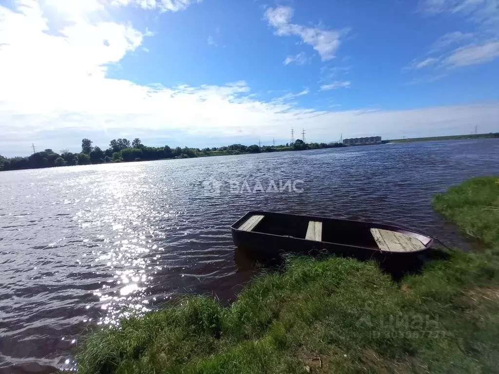
<svg viewBox="0 0 499 374"><path fill-rule="evenodd" d="M264 218L252 231L238 229L243 222L255 214L264 215ZM322 222L323 241L305 239L308 221ZM412 236L419 239L425 247L414 252L382 251L378 248L370 228L391 230ZM260 210L246 213L231 226L231 231L234 244L237 247L263 256L276 256L282 253L317 254L328 252L361 259L409 258L433 245L431 237L403 227Z"/></svg>

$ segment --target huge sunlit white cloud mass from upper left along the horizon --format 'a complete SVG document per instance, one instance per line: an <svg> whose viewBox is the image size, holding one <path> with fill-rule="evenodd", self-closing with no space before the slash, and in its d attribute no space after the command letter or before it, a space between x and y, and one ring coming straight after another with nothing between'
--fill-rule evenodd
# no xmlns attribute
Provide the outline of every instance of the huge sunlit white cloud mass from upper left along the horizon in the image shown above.
<svg viewBox="0 0 499 374"><path fill-rule="evenodd" d="M256 134L262 140L278 138L290 127L305 128L320 141L340 132L400 138L404 133L464 133L476 123L483 132L497 129L498 103L318 111L293 102L308 89L263 101L251 96L245 81L164 87L110 79L106 66L141 48L145 33L131 24L92 23L85 16L49 33L38 4L22 4L15 11L0 5L0 151L5 156L29 154L31 142L39 149L77 151L82 138L100 147L120 137L202 147L211 145L206 139L212 134L214 145L234 143L242 136L240 129L254 142Z"/></svg>

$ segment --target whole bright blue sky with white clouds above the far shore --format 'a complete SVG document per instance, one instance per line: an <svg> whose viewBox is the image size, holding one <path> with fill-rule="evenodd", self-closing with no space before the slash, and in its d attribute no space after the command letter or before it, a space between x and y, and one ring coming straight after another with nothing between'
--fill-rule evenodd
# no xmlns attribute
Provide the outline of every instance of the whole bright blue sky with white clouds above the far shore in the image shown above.
<svg viewBox="0 0 499 374"><path fill-rule="evenodd" d="M499 131L498 0L0 0L0 154Z"/></svg>

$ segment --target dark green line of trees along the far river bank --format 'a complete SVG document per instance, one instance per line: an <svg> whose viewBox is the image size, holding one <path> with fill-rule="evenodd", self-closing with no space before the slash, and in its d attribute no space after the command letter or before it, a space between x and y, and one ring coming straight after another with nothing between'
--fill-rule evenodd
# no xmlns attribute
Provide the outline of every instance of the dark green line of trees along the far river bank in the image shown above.
<svg viewBox="0 0 499 374"><path fill-rule="evenodd" d="M342 147L342 144L325 143L304 143L297 139L294 143L286 143L280 146L245 146L242 144L233 144L224 147L213 148L189 148L176 147L148 147L144 146L139 138L132 142L128 139L113 139L109 143L109 148L102 150L100 147L93 146L90 139L82 139L81 152L72 153L67 149L56 153L51 149L33 153L28 157L6 158L0 155L0 171L20 170L20 169L38 169L51 168L70 165L88 165L103 163L119 163L131 161L152 161L167 159L185 159L206 156L223 155L241 155L260 152L279 152L279 151L303 151L308 149L321 149L330 147Z"/></svg>

